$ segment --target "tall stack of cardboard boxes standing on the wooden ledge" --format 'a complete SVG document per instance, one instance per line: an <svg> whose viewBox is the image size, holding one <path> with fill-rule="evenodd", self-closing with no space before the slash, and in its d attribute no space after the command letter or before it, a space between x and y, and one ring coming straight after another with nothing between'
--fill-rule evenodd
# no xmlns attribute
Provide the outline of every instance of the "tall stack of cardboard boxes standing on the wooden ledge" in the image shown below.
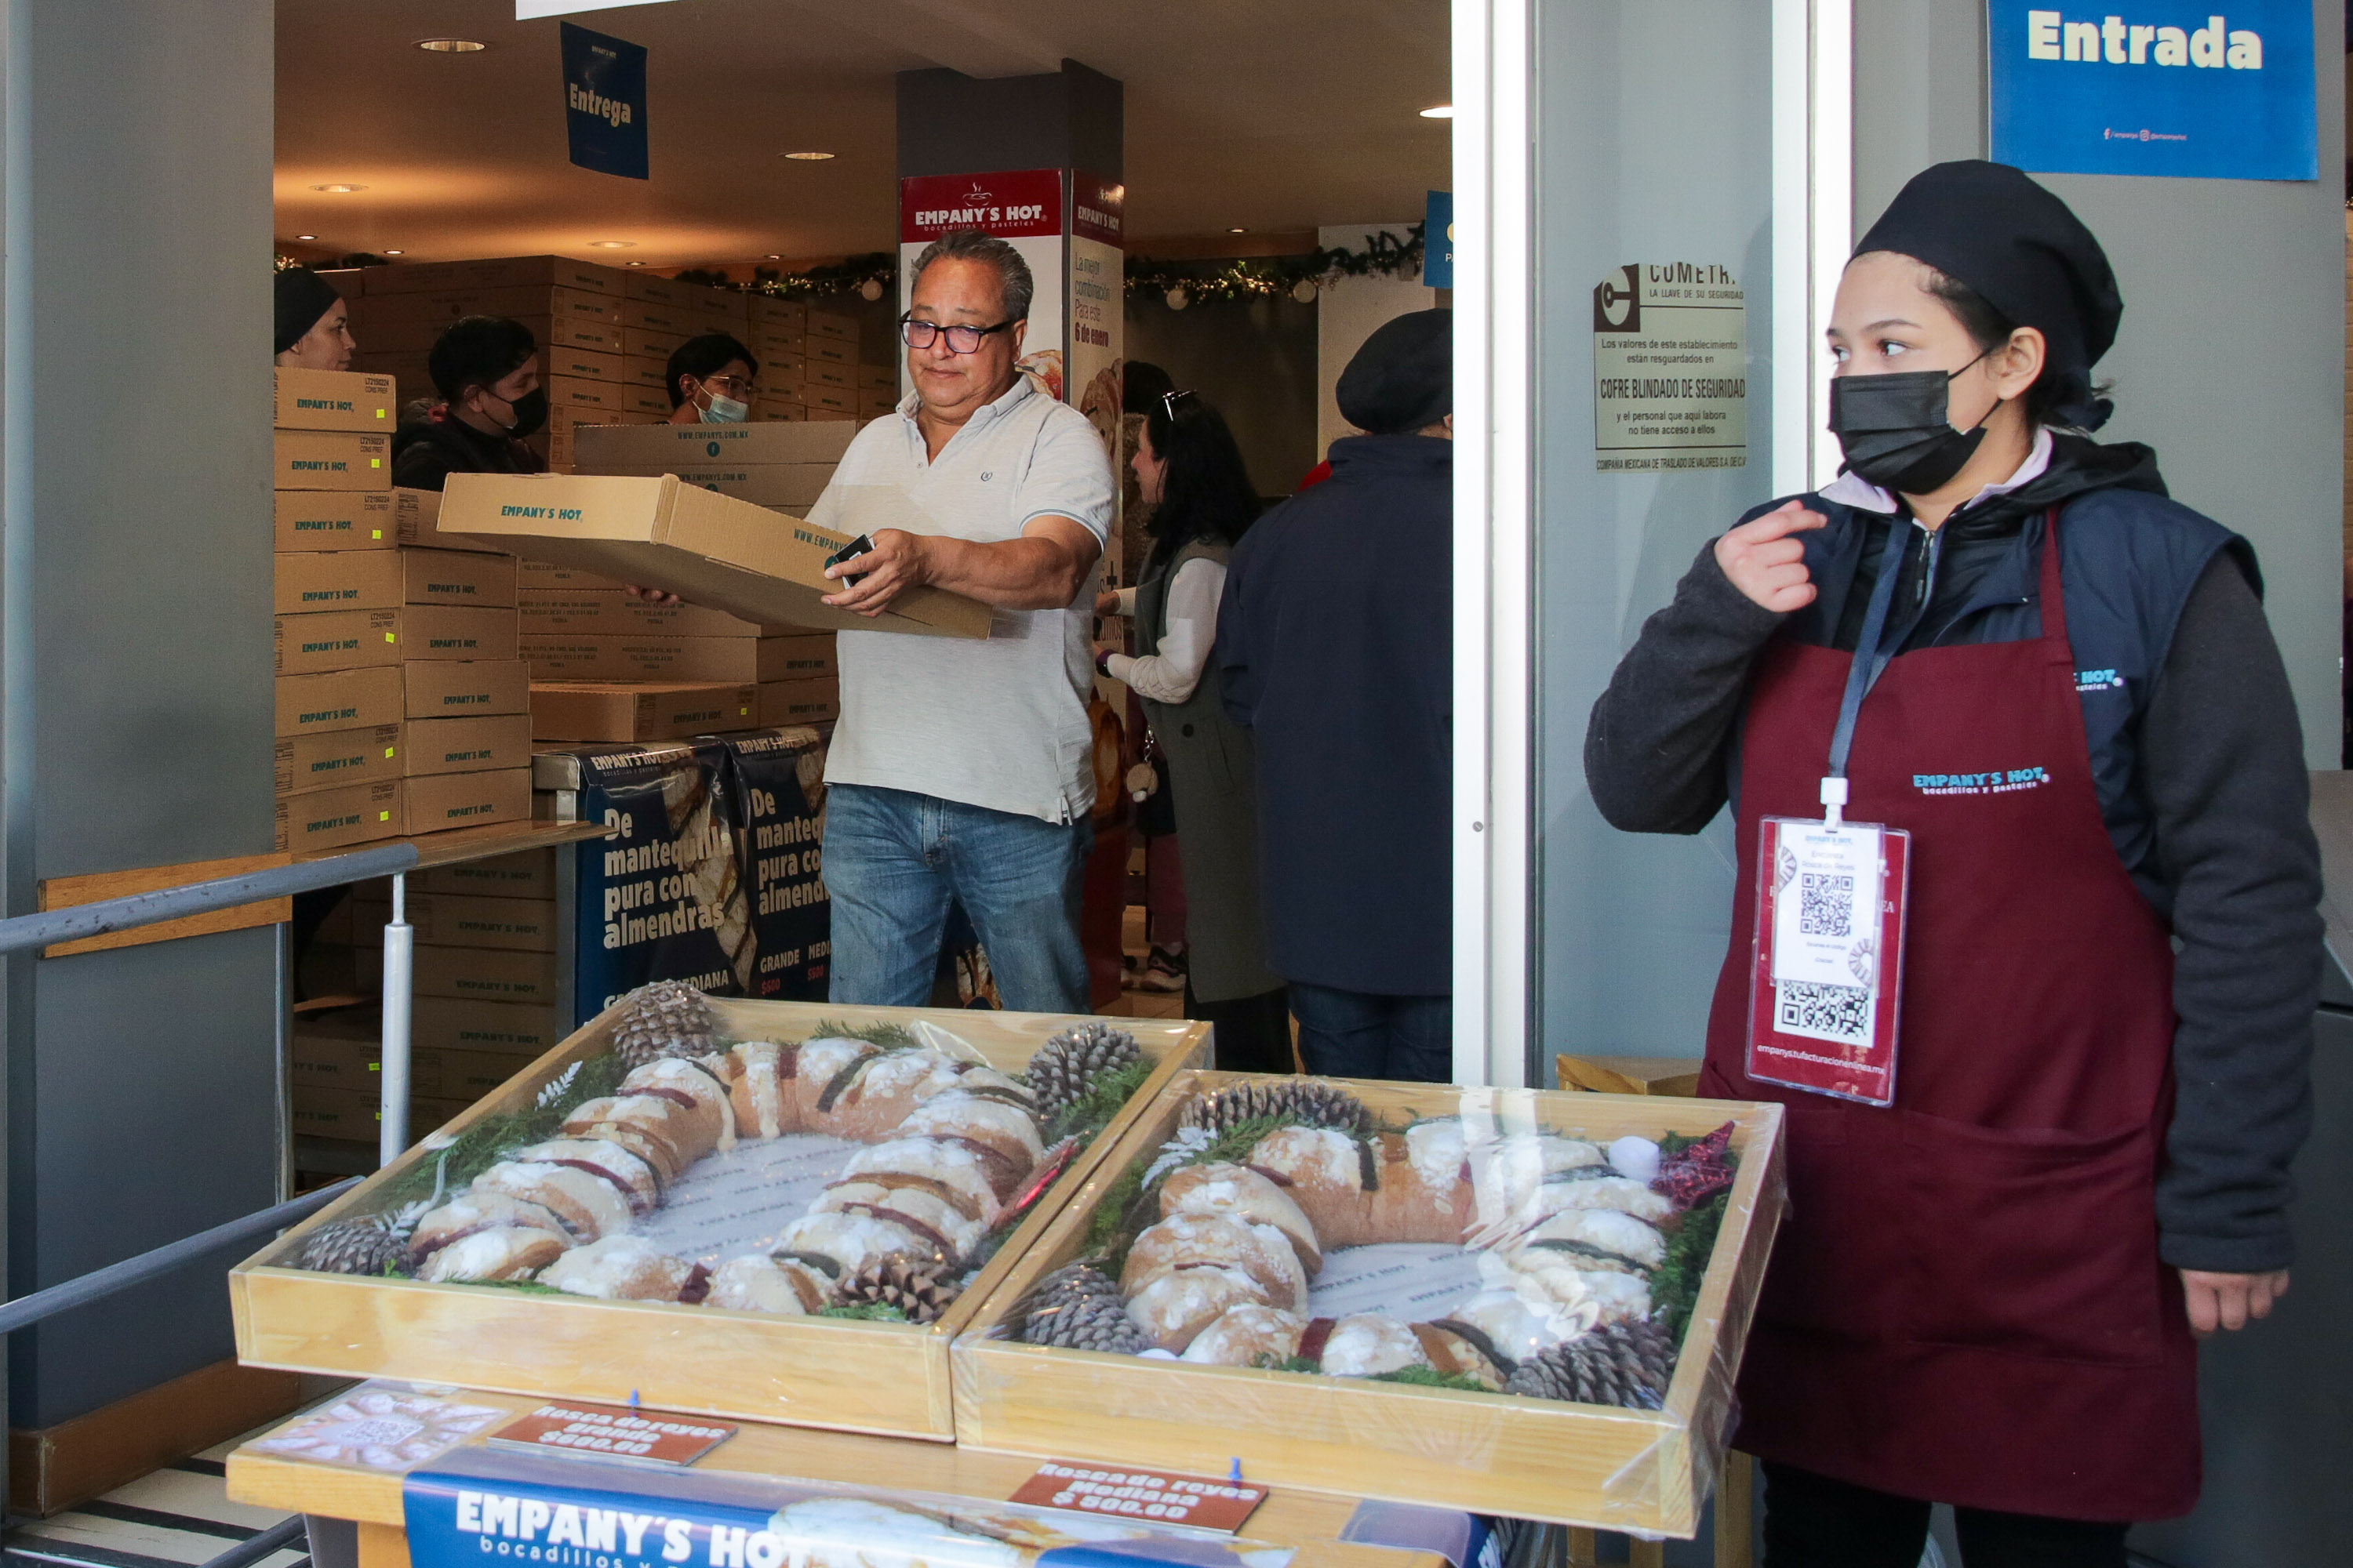
<svg viewBox="0 0 2353 1568"><path fill-rule="evenodd" d="M532 813L515 562L391 487L395 390L278 371L278 849L296 853Z"/></svg>

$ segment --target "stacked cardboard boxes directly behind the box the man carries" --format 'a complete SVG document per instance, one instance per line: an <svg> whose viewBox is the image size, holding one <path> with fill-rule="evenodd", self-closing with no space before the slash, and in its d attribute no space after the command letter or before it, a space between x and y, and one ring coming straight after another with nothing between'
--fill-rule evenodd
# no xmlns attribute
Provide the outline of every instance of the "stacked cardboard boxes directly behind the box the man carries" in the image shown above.
<svg viewBox="0 0 2353 1568"><path fill-rule="evenodd" d="M588 425L574 468L678 475L800 517L854 430L854 421ZM520 602L541 741L673 741L840 717L833 632L647 604L612 578L529 562Z"/></svg>

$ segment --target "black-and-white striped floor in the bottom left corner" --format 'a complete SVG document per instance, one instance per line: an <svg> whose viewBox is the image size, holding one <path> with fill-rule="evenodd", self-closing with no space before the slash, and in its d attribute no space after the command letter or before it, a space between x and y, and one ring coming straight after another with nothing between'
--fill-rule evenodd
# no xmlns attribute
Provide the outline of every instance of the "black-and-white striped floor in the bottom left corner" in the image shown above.
<svg viewBox="0 0 2353 1568"><path fill-rule="evenodd" d="M275 1427L278 1422L271 1422ZM254 1436L254 1434L247 1434ZM228 1500L221 1462L245 1439L207 1448L104 1497L52 1519L31 1519L0 1535L7 1568L78 1563L82 1568L186 1568L252 1540L285 1514ZM311 1568L308 1547L296 1540L264 1556L254 1568Z"/></svg>

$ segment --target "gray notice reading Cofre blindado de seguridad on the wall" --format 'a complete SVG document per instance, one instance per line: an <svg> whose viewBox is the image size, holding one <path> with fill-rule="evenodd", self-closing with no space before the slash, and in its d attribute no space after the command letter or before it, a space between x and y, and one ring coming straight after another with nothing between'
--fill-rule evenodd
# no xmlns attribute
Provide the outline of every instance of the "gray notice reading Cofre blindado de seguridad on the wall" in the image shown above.
<svg viewBox="0 0 2353 1568"><path fill-rule="evenodd" d="M1748 465L1748 296L1732 268L1633 261L1593 284L1593 465Z"/></svg>

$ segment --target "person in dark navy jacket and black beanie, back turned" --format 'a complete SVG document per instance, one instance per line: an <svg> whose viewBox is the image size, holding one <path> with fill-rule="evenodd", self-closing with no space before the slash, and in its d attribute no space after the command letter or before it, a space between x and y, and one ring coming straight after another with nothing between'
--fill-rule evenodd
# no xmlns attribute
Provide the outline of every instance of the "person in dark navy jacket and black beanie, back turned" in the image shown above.
<svg viewBox="0 0 2353 1568"><path fill-rule="evenodd" d="M1308 1072L1454 1077L1454 313L1339 378L1332 477L1233 548L1226 712L1254 731L1266 961Z"/></svg>

